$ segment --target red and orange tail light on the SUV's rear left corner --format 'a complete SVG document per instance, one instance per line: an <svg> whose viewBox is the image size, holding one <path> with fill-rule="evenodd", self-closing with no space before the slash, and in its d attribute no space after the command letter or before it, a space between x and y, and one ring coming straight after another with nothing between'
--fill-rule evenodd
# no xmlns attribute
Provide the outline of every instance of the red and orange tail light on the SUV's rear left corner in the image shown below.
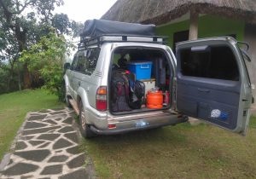
<svg viewBox="0 0 256 179"><path fill-rule="evenodd" d="M107 87L100 86L96 93L96 109L99 111L106 111L108 107L108 94L107 94Z"/></svg>

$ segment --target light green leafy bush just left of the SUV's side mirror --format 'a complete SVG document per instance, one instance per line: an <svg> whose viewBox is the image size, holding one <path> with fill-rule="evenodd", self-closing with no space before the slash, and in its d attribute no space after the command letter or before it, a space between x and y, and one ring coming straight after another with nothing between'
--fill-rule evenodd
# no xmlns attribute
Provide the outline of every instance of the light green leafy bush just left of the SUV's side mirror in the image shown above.
<svg viewBox="0 0 256 179"><path fill-rule="evenodd" d="M32 45L30 49L23 50L20 61L28 64L29 71L38 72L44 79L44 88L63 99L62 77L63 61L68 49L72 47L66 39L55 32L49 32L47 36Z"/></svg>

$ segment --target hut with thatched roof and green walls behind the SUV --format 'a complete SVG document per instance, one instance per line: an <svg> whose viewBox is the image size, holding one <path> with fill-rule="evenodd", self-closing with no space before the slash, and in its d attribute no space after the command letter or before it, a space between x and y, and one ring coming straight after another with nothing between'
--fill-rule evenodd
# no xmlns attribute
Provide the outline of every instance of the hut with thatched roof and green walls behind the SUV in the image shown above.
<svg viewBox="0 0 256 179"><path fill-rule="evenodd" d="M102 19L154 23L174 50L175 43L195 38L230 35L245 41L256 84L256 0L118 0Z"/></svg>

